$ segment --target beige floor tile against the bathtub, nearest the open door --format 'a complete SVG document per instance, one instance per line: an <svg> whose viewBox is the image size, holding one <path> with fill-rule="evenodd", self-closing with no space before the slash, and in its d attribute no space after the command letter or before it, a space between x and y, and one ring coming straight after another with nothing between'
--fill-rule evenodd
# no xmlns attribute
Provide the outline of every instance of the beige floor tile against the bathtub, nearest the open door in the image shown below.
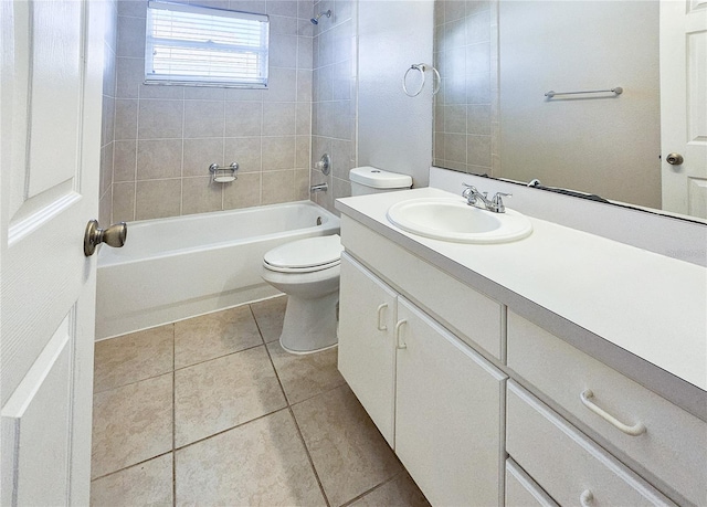
<svg viewBox="0 0 707 507"><path fill-rule="evenodd" d="M96 342L94 392L172 371L173 325Z"/></svg>

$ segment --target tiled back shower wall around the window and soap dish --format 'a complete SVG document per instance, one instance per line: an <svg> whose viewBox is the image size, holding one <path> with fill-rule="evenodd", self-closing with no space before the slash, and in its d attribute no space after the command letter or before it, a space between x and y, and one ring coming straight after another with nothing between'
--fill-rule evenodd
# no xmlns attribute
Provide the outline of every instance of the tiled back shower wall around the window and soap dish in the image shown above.
<svg viewBox="0 0 707 507"><path fill-rule="evenodd" d="M147 2L117 2L112 221L219 211L309 197L310 1L200 0L267 13L267 89L145 85ZM238 161L213 183L209 165Z"/></svg>

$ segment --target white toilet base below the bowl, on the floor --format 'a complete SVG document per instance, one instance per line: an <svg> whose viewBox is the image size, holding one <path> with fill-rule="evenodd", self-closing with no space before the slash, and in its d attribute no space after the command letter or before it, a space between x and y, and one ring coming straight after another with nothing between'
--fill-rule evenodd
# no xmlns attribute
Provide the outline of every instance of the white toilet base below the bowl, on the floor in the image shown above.
<svg viewBox="0 0 707 507"><path fill-rule="evenodd" d="M318 299L291 294L279 336L282 348L291 353L312 353L336 346L338 302L338 291Z"/></svg>

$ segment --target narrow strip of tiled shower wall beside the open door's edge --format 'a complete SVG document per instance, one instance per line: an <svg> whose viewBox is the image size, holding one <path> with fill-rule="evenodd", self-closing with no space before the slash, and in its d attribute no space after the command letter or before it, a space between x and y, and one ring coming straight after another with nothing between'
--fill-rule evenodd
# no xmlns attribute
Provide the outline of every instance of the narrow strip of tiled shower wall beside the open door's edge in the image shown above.
<svg viewBox="0 0 707 507"><path fill-rule="evenodd" d="M104 3L106 19L103 40L103 120L101 124L101 183L98 221L103 226L110 224L113 214L113 149L115 147L115 49L117 42L116 23L118 19L116 0Z"/></svg>

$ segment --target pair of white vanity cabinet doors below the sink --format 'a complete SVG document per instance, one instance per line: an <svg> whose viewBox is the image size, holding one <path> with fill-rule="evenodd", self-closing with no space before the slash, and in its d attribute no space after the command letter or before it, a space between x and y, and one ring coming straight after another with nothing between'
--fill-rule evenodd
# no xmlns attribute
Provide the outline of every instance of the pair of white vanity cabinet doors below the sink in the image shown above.
<svg viewBox="0 0 707 507"><path fill-rule="evenodd" d="M433 505L500 505L506 376L347 254L339 369Z"/></svg>

